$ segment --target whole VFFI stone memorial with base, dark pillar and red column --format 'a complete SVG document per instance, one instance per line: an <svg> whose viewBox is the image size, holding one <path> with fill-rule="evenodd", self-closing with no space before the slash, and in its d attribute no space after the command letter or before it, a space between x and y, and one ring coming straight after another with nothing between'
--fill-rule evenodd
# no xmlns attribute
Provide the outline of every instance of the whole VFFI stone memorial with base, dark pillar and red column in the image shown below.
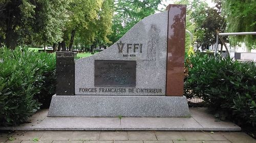
<svg viewBox="0 0 256 143"><path fill-rule="evenodd" d="M57 94L48 116L189 117L183 96L186 7L166 10L87 58L57 52Z"/></svg>

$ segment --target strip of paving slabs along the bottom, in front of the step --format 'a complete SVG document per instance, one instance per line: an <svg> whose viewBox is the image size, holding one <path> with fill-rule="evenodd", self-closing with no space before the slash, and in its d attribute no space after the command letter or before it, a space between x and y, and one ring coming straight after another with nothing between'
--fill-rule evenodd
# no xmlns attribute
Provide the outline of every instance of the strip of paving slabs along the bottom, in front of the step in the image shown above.
<svg viewBox="0 0 256 143"><path fill-rule="evenodd" d="M9 140L8 140L9 138ZM12 141L10 141L12 140ZM34 140L34 141L32 141ZM254 143L243 132L202 131L15 131L0 142L39 143Z"/></svg>

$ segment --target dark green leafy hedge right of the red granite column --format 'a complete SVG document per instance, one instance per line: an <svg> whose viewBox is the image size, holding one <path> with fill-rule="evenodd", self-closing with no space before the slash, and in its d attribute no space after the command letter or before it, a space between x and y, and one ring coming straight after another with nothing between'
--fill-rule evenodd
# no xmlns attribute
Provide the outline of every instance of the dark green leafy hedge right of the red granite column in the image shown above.
<svg viewBox="0 0 256 143"><path fill-rule="evenodd" d="M194 55L186 58L187 98L202 97L216 117L239 125L256 124L256 67L253 62Z"/></svg>

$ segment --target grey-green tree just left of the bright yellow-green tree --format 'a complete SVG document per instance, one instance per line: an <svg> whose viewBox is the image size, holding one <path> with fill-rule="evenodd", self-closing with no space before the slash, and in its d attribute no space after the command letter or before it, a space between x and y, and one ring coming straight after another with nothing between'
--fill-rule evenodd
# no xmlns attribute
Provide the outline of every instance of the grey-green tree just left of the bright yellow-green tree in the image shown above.
<svg viewBox="0 0 256 143"><path fill-rule="evenodd" d="M62 41L62 31L67 22L69 1L38 0L35 8L34 33L44 45ZM45 46L44 46L45 47Z"/></svg>

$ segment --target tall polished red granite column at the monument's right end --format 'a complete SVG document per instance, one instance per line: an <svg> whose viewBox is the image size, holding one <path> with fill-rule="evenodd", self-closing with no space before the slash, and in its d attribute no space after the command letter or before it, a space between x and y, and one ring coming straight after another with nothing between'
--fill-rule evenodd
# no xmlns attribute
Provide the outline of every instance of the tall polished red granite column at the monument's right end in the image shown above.
<svg viewBox="0 0 256 143"><path fill-rule="evenodd" d="M166 96L183 96L186 5L168 5Z"/></svg>

